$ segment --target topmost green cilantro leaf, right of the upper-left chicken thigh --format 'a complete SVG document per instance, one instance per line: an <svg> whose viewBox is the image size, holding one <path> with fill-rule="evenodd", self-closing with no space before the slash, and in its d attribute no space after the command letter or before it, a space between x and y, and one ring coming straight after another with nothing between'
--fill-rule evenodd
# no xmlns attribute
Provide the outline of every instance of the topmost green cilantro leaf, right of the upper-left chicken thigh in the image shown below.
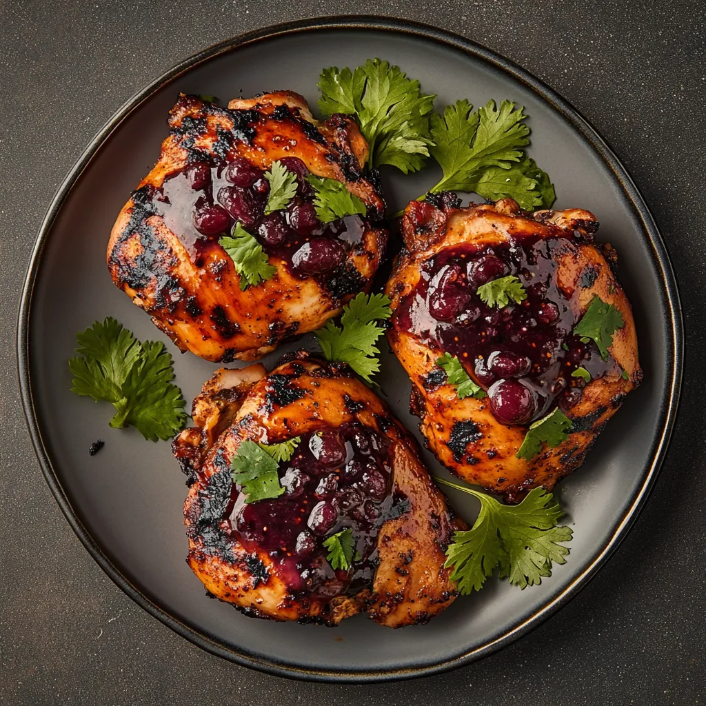
<svg viewBox="0 0 706 706"><path fill-rule="evenodd" d="M318 106L324 115L354 115L369 147L369 167L391 164L405 174L424 166L429 156L429 114L433 95L424 95L419 81L399 66L368 59L363 66L331 66L318 81Z"/></svg>

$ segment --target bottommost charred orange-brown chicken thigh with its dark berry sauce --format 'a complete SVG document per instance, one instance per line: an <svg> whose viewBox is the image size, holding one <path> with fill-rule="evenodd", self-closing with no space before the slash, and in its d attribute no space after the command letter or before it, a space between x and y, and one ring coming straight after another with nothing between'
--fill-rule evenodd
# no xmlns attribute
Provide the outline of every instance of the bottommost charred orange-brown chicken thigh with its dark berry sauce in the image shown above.
<svg viewBox="0 0 706 706"><path fill-rule="evenodd" d="M191 482L189 566L211 594L260 618L335 625L366 611L392 628L453 602L445 549L460 523L414 441L345 369L304 353L269 375L220 369L193 419L173 448ZM284 493L246 503L232 479L239 445L296 437L278 470ZM348 529L351 566L334 570L323 542Z"/></svg>

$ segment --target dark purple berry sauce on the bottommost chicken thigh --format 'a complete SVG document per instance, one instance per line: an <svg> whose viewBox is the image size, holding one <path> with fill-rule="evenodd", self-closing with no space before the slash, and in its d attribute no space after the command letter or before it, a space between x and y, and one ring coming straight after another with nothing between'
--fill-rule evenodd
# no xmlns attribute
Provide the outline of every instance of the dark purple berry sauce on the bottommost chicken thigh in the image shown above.
<svg viewBox="0 0 706 706"><path fill-rule="evenodd" d="M234 538L268 551L293 592L333 597L369 585L380 527L407 508L393 491L390 441L360 424L309 433L279 475L285 493L273 500L246 504L233 485L225 519ZM323 541L347 528L356 554L349 570L333 570Z"/></svg>

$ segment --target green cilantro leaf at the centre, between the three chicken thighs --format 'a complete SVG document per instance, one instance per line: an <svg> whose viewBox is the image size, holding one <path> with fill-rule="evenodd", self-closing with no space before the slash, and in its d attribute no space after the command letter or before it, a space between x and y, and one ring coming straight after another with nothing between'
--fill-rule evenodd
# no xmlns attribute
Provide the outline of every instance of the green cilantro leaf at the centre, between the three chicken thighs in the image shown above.
<svg viewBox="0 0 706 706"><path fill-rule="evenodd" d="M372 383L372 376L380 369L375 345L385 330L378 321L390 318L390 299L385 294L363 294L349 302L341 316L341 326L328 321L314 331L327 360L349 364L364 380Z"/></svg>

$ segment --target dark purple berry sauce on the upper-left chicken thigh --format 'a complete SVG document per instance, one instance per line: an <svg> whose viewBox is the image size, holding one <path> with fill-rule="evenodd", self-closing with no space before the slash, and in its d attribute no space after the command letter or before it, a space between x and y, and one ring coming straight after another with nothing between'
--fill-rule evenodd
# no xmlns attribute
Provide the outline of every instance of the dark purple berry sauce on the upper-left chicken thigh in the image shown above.
<svg viewBox="0 0 706 706"><path fill-rule="evenodd" d="M170 174L160 189L152 189L155 213L197 265L205 249L241 222L265 253L282 258L294 275L330 277L344 263L346 252L361 242L364 220L359 215L330 223L318 220L304 162L297 157L280 161L297 174L297 194L273 214L265 215L270 191L265 172L242 157L215 165L191 162Z"/></svg>

